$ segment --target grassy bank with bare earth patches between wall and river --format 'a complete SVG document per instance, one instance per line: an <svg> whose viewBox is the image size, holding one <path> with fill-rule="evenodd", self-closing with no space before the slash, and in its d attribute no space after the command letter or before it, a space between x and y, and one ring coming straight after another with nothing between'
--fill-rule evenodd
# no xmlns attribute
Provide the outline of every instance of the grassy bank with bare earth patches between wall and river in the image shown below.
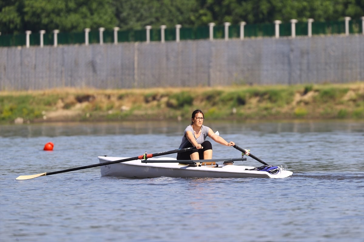
<svg viewBox="0 0 364 242"><path fill-rule="evenodd" d="M364 82L0 91L0 124L185 120L364 120Z"/></svg>

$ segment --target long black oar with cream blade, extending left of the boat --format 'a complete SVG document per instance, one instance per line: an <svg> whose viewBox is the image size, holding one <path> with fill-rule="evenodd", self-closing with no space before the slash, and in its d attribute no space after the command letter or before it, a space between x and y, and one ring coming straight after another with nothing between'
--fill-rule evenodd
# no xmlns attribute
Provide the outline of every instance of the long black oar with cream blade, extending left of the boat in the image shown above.
<svg viewBox="0 0 364 242"><path fill-rule="evenodd" d="M94 164L94 165L86 165L84 167L76 167L76 168L66 169L66 170L62 170L62 171L55 171L55 172L48 172L48 173L44 172L44 173L28 175L28 176L18 176L18 177L16 177L16 180L28 180L28 179L33 179L33 178L36 178L39 176L50 176L50 175L54 175L54 174L58 174L58 173L64 173L64 172L69 172L69 171L78 171L78 170L82 170L82 169L100 167L103 165L110 165L110 164L115 164L115 163L120 163L120 162L125 162L125 161L131 161L131 160L142 160L142 159L146 160L147 158L151 158L154 156L169 155L169 154L185 152L185 151L189 151L189 150L193 150L193 149L196 149L196 147L174 149L172 151L164 151L164 152L159 152L159 153L154 153L154 154L144 154L144 155L126 158L126 159L122 159L122 160L114 160L114 161L108 161L108 162Z"/></svg>

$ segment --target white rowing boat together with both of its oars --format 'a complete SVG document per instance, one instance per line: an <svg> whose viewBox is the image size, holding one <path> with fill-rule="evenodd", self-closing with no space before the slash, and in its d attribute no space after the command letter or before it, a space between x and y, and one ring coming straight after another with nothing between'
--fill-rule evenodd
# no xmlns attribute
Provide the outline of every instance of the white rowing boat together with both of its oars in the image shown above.
<svg viewBox="0 0 364 242"><path fill-rule="evenodd" d="M214 160L177 160L173 158L152 157L169 155L179 152L186 152L196 149L196 147L174 149L153 154L145 154L135 157L107 157L99 156L99 163L75 167L54 172L42 172L34 175L21 175L16 180L29 180L40 176L50 176L54 174L79 171L92 167L101 167L102 176L118 176L124 178L154 178L154 177L270 177L284 178L292 175L282 167L273 167L268 165L258 157L254 156L249 150L242 149L233 145L238 151L242 152L241 158L236 159L214 159ZM264 164L262 167L247 167L233 165L234 161L246 160L244 154L249 155L254 160ZM223 164L217 164L217 161L223 161ZM187 163L187 164L186 164ZM201 164L200 164L201 163Z"/></svg>

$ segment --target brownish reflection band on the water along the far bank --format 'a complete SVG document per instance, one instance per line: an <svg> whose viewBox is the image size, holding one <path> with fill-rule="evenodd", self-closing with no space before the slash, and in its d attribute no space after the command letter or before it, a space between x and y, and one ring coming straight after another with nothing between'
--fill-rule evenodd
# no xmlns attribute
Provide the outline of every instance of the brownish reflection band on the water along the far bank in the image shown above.
<svg viewBox="0 0 364 242"><path fill-rule="evenodd" d="M44 123L0 126L0 136L74 136L115 134L182 134L189 122L139 121L110 123ZM224 134L244 134L256 131L277 134L281 132L364 132L363 122L352 121L295 121L295 122L211 122L206 126Z"/></svg>

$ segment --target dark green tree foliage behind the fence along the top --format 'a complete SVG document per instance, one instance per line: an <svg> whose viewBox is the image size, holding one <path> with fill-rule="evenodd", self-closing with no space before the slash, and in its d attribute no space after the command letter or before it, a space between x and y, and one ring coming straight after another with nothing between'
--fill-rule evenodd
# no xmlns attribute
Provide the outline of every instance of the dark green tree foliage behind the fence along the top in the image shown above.
<svg viewBox="0 0 364 242"><path fill-rule="evenodd" d="M0 32L81 32L84 28L143 29L209 22L271 23L364 16L364 0L1 0Z"/></svg>

